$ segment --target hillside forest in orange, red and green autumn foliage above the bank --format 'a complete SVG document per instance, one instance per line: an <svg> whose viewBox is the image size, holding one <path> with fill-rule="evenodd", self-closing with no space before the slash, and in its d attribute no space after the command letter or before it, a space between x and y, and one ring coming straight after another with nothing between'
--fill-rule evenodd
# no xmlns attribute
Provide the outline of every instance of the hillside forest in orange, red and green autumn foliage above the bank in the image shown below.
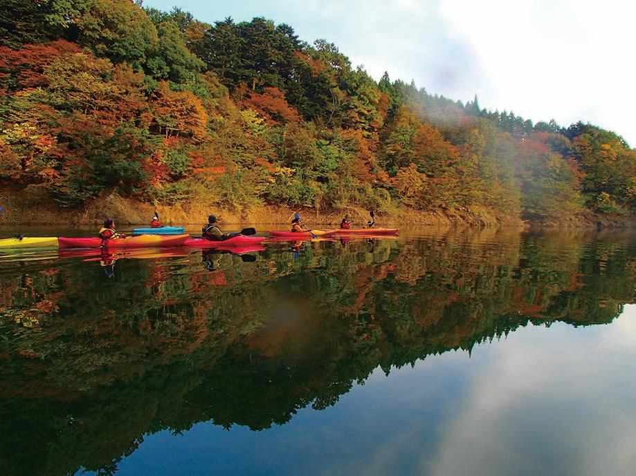
<svg viewBox="0 0 636 476"><path fill-rule="evenodd" d="M11 0L0 45L0 184L60 206L116 191L547 222L636 207L636 151L619 135L378 83L334 44L264 18Z"/></svg>

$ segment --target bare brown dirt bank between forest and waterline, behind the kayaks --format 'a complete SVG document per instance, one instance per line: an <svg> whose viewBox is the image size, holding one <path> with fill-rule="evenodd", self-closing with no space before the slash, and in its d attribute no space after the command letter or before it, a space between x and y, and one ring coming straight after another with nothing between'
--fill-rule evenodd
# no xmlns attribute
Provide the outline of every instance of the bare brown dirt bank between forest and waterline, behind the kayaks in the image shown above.
<svg viewBox="0 0 636 476"><path fill-rule="evenodd" d="M342 210L300 209L289 207L253 207L251 209L224 209L216 204L182 202L171 207L153 206L138 200L122 198L111 193L98 200L87 202L84 207L66 209L57 207L55 202L39 193L28 191L0 191L0 225L96 225L105 217L113 217L120 225L147 224L154 211L158 211L164 225L200 224L207 221L210 213L232 223L289 223L293 213L298 211L305 222L314 225L336 225L347 216L354 225L365 225L369 212L365 209L347 208ZM440 209L418 211L397 209L389 213L376 211L376 224L383 225L471 225L481 227L540 225L547 227L634 227L635 220L624 217L580 216L552 222L523 222L516 211L502 214L486 207L462 209Z"/></svg>

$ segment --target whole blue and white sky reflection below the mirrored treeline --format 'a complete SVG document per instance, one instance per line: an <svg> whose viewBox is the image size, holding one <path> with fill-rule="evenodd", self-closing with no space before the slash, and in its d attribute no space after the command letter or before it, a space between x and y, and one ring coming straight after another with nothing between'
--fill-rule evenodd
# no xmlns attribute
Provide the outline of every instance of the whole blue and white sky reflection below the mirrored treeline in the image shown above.
<svg viewBox="0 0 636 476"><path fill-rule="evenodd" d="M146 437L119 474L631 475L635 357L636 305L612 325L530 325L377 369L284 426Z"/></svg>

